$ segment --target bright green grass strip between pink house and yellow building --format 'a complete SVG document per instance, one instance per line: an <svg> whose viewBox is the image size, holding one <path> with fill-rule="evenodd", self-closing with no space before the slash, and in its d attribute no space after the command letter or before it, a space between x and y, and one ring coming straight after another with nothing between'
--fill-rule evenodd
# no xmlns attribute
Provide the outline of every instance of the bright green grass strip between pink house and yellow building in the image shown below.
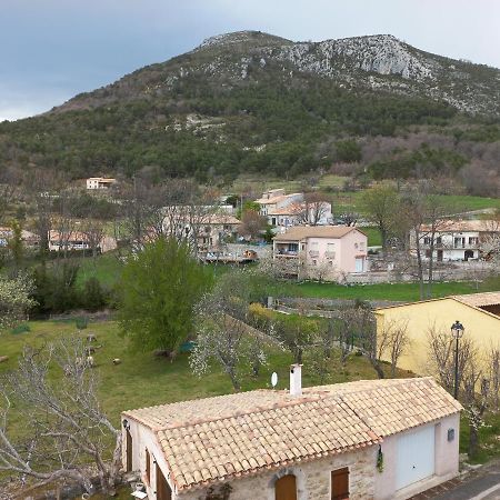
<svg viewBox="0 0 500 500"><path fill-rule="evenodd" d="M493 283L494 287L494 283ZM491 290L496 290L492 288ZM483 289L482 291L491 291ZM474 284L467 281L450 281L433 284L433 297L446 297L461 293L477 292ZM356 284L346 287L336 283L317 283L312 281L303 283L289 282L276 292L281 297L310 297L319 299L361 299L361 300L393 300L400 302L413 302L420 300L418 283L378 283Z"/></svg>

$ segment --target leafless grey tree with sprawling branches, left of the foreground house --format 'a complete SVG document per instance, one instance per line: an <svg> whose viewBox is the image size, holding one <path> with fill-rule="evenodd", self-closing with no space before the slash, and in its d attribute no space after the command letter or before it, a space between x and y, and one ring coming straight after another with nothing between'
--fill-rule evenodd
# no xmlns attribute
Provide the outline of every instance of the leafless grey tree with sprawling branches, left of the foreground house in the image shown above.
<svg viewBox="0 0 500 500"><path fill-rule="evenodd" d="M19 369L0 384L0 471L32 478L37 486L71 480L90 493L97 470L102 491L114 494L121 432L100 408L96 374L86 360L83 344L74 340L24 349ZM53 370L63 373L63 383L49 374ZM23 408L17 416L23 420L22 437L10 433L14 404ZM110 438L114 449L108 461Z"/></svg>

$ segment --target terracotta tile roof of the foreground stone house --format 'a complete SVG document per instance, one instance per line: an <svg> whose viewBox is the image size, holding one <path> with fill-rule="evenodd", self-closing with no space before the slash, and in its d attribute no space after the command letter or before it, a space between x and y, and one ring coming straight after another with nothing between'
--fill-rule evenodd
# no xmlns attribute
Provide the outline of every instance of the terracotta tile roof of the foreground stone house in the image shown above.
<svg viewBox="0 0 500 500"><path fill-rule="evenodd" d="M123 417L157 434L178 490L376 444L460 411L431 378L260 390L186 401Z"/></svg>

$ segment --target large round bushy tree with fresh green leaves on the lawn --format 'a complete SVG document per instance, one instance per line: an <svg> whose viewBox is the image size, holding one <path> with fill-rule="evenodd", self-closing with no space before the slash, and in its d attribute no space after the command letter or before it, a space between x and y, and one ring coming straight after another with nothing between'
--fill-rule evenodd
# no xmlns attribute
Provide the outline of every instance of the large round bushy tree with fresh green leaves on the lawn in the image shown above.
<svg viewBox="0 0 500 500"><path fill-rule="evenodd" d="M186 244L160 238L123 268L118 319L137 349L172 356L193 330L193 308L210 274Z"/></svg>

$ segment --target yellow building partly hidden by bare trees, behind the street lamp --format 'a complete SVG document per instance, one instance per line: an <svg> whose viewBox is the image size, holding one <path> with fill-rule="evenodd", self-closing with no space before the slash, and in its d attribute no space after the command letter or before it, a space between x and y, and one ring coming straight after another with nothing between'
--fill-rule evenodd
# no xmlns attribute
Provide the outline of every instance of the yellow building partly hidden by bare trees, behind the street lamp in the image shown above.
<svg viewBox="0 0 500 500"><path fill-rule="evenodd" d="M428 334L434 328L450 334L451 324L460 321L464 337L473 340L480 352L500 347L500 291L451 296L376 310L377 332L393 326L407 326L409 347L398 361L398 367L419 374L429 373ZM389 353L382 360L390 361ZM487 367L484 367L487 368Z"/></svg>

